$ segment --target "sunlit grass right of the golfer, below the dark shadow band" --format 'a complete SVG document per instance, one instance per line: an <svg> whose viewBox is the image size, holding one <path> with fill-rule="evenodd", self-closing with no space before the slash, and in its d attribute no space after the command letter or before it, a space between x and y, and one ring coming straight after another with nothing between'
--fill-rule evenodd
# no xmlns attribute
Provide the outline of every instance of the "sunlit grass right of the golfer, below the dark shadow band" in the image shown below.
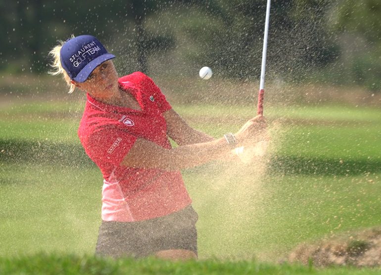
<svg viewBox="0 0 381 275"><path fill-rule="evenodd" d="M185 174L203 256L279 260L303 241L380 226L381 173L255 178L255 169L230 169Z"/></svg>

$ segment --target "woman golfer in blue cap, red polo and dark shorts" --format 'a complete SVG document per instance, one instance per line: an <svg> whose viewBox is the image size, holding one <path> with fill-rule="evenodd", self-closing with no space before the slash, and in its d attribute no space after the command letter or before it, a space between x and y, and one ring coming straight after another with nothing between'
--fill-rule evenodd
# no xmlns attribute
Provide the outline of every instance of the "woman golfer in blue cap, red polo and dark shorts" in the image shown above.
<svg viewBox="0 0 381 275"><path fill-rule="evenodd" d="M51 74L62 73L70 92L87 93L78 135L103 175L96 254L196 258L197 214L180 171L257 142L262 116L214 139L192 129L143 73L118 78L115 56L95 37L72 37L50 54Z"/></svg>

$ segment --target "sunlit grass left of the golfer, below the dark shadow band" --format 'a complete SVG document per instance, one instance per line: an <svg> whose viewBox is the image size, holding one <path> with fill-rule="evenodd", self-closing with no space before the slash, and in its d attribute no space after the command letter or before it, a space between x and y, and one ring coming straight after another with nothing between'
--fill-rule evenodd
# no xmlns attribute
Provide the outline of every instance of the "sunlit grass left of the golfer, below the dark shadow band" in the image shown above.
<svg viewBox="0 0 381 275"><path fill-rule="evenodd" d="M14 163L0 164L0 171L1 255L94 251L102 190L97 169Z"/></svg>

